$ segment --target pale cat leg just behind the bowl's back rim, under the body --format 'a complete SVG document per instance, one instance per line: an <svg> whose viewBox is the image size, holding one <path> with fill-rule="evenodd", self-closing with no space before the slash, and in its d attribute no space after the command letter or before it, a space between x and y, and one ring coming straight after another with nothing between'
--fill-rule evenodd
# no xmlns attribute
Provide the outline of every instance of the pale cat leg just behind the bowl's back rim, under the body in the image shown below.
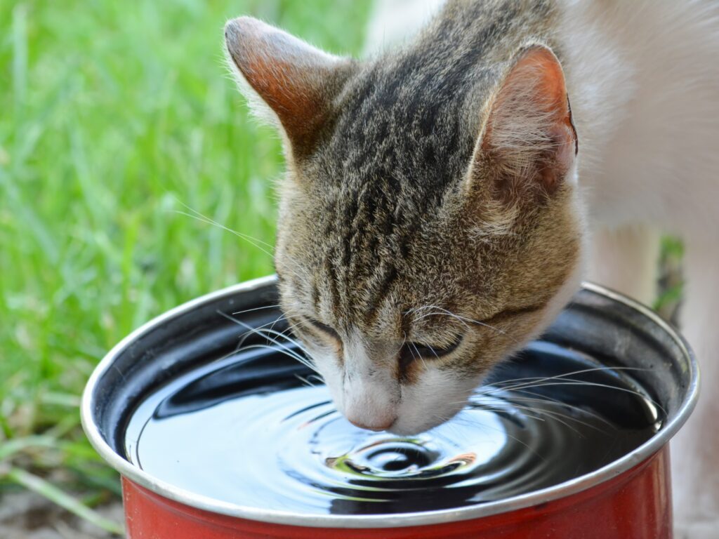
<svg viewBox="0 0 719 539"><path fill-rule="evenodd" d="M592 234L589 280L651 305L656 297L659 234L642 226Z"/></svg>

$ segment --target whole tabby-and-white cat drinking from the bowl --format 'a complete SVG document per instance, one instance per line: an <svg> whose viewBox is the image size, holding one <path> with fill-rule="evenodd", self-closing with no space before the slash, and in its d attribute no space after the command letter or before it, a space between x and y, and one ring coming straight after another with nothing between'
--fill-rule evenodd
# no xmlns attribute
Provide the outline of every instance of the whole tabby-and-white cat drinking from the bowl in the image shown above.
<svg viewBox="0 0 719 539"><path fill-rule="evenodd" d="M677 234L704 379L672 442L677 530L717 537L719 4L380 6L408 30L437 13L365 60L225 27L242 92L283 137L280 299L336 407L398 434L444 422L583 278L650 301L658 234Z"/></svg>

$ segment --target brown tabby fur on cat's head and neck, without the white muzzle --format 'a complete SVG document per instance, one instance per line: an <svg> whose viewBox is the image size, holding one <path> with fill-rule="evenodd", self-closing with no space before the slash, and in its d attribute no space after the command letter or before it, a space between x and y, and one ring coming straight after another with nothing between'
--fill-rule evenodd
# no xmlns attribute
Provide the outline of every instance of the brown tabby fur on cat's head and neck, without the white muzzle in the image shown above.
<svg viewBox="0 0 719 539"><path fill-rule="evenodd" d="M253 19L228 24L242 82L285 135L283 309L306 342L318 339L309 319L334 328L340 367L343 341L359 335L385 351L376 368L393 372L400 392L424 369L478 381L532 336L576 270L576 187L554 157L564 142L521 132L525 147L492 147L512 129L498 112L510 73L532 47L551 46L553 21L551 1L454 1L408 47L337 59L331 75L326 57L288 67L286 34L278 42ZM321 106L307 106L318 88ZM461 335L456 353L397 367L403 342L448 346Z"/></svg>

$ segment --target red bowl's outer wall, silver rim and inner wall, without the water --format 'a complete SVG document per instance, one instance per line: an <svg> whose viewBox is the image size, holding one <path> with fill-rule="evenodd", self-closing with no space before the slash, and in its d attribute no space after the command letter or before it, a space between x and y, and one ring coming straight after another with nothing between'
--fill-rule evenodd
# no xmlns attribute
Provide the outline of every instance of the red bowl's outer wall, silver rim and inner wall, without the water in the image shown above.
<svg viewBox="0 0 719 539"><path fill-rule="evenodd" d="M454 510L306 515L221 502L162 482L131 464L124 457L123 436L134 405L191 368L200 352L220 354L228 343L237 342L237 326L219 322L218 312L275 303L274 277L203 296L134 331L93 373L83 395L83 427L96 450L123 476L129 538L672 537L668 442L697 400L697 364L682 337L651 310L590 284L577 293L545 338L609 357L614 365L641 367L639 381L667 413L649 441L590 474Z"/></svg>

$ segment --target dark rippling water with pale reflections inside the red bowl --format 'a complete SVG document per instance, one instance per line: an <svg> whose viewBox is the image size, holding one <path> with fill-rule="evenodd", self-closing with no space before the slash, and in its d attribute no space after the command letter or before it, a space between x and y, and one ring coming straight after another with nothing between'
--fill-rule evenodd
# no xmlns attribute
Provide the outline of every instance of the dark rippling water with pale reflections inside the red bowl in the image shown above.
<svg viewBox="0 0 719 539"><path fill-rule="evenodd" d="M134 411L127 458L237 505L414 512L559 484L618 459L661 425L636 372L542 342L493 374L472 407L418 436L355 428L324 386L306 385L308 374L277 351L253 349L179 377Z"/></svg>

